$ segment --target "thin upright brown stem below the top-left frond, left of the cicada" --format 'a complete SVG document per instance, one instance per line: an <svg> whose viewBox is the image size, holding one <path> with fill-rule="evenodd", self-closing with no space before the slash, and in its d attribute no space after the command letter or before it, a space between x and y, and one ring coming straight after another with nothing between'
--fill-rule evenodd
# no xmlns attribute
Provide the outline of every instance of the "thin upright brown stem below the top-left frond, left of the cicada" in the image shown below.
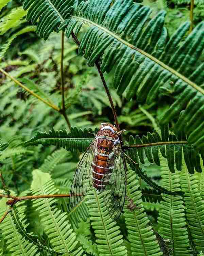
<svg viewBox="0 0 204 256"><path fill-rule="evenodd" d="M64 116L67 125L69 127L69 130L71 129L71 124L69 122L69 118L66 114L66 108L65 108L65 84L64 84L64 36L65 33L62 31L62 50L61 50L61 85L62 85L62 110L60 111L62 115Z"/></svg>

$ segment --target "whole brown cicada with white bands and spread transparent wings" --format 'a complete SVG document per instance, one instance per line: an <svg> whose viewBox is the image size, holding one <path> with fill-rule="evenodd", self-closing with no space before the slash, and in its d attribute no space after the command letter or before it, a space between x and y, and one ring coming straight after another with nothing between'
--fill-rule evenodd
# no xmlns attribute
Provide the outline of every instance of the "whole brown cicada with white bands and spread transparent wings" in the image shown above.
<svg viewBox="0 0 204 256"><path fill-rule="evenodd" d="M95 140L86 149L75 172L70 205L75 207L93 187L103 198L112 219L119 218L126 194L126 169L115 125L102 123Z"/></svg>

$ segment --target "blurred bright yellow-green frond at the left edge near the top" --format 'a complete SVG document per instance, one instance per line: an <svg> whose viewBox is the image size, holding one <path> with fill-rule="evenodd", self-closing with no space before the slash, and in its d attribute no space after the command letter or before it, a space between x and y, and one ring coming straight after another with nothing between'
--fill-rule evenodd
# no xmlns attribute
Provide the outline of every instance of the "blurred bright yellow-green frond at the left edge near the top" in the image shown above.
<svg viewBox="0 0 204 256"><path fill-rule="evenodd" d="M26 14L27 11L24 11L22 7L18 7L12 9L9 14L3 16L0 19L0 35L3 35L9 29L16 28L21 23L26 22L26 19L22 19Z"/></svg>

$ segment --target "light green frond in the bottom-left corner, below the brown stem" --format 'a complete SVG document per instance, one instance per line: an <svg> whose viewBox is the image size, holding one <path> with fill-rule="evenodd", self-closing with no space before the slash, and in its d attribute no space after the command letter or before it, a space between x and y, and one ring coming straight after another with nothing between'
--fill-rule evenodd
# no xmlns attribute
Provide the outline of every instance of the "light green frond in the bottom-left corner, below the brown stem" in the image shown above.
<svg viewBox="0 0 204 256"><path fill-rule="evenodd" d="M0 216L8 210L6 208L6 201L6 198L0 200ZM24 218L23 212L21 213L20 218ZM11 256L40 255L40 253L37 253L37 246L21 235L18 225L16 225L14 221L12 212L10 212L1 223L1 231L4 239L7 241L6 248L11 253Z"/></svg>

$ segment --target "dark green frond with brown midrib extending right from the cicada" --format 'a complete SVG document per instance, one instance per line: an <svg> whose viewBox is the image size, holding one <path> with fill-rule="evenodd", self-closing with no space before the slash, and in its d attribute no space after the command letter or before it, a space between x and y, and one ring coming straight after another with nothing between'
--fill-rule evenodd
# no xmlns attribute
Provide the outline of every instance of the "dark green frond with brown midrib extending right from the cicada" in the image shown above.
<svg viewBox="0 0 204 256"><path fill-rule="evenodd" d="M162 156L167 158L169 170L174 173L175 166L177 170L182 169L182 151L184 153L184 161L187 165L189 173L193 174L194 169L197 172L202 172L200 155L191 145L186 144L186 135L174 133L169 134L168 124L161 127L162 138L154 131L143 135L142 140L138 135L134 138L129 137L129 146L135 145L127 150L128 155L136 162L144 164L144 156L147 157L150 163L155 162L160 165L159 151ZM159 149L159 150L158 150ZM175 165L175 166L174 166Z"/></svg>

